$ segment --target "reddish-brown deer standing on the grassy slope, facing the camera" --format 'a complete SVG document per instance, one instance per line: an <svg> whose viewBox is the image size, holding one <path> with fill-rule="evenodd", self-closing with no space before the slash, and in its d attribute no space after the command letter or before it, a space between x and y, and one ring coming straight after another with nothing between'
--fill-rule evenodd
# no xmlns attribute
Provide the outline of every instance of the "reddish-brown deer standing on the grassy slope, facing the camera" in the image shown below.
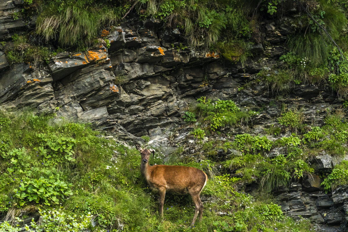
<svg viewBox="0 0 348 232"><path fill-rule="evenodd" d="M199 213L199 221L202 220L203 204L200 201L199 194L207 183L208 176L204 171L193 167L169 166L169 165L149 165L149 157L155 156L155 150L142 149L139 144L135 147L141 154L141 174L153 191L159 192L159 213L163 218L163 203L166 192L179 194L189 193L195 203L195 215L192 224L195 224Z"/></svg>

